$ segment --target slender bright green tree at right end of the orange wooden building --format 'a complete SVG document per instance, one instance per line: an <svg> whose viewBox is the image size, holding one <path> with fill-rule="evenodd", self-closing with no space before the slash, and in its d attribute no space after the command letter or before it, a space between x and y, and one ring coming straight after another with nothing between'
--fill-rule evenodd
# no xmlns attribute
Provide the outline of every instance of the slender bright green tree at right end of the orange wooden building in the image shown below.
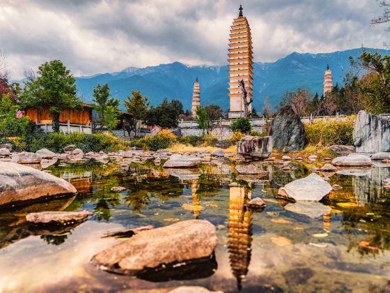
<svg viewBox="0 0 390 293"><path fill-rule="evenodd" d="M116 110L119 107L117 98L110 98L110 89L108 84L101 86L98 84L93 89L93 107L100 116L100 130L108 128L114 130L118 123L118 114Z"/></svg>

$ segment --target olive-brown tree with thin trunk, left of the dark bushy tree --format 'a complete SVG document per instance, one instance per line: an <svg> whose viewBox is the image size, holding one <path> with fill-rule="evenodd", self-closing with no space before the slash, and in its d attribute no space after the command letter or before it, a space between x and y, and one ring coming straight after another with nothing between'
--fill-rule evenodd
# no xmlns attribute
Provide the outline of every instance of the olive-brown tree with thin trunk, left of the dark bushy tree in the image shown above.
<svg viewBox="0 0 390 293"><path fill-rule="evenodd" d="M149 107L148 97L142 96L140 91L132 91L131 97L127 95L125 107L127 113L130 114L126 116L125 128L127 129L127 133L132 136L132 133L135 135L137 131L137 123L146 120Z"/></svg>

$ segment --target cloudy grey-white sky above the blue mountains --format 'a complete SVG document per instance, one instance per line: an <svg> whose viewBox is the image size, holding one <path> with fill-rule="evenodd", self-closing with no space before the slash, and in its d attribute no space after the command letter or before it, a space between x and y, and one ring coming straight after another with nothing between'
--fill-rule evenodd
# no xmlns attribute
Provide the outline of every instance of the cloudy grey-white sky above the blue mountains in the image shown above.
<svg viewBox="0 0 390 293"><path fill-rule="evenodd" d="M383 47L376 0L0 0L0 49L13 79L61 59L75 75L180 61L226 63L242 3L256 61L291 52Z"/></svg>

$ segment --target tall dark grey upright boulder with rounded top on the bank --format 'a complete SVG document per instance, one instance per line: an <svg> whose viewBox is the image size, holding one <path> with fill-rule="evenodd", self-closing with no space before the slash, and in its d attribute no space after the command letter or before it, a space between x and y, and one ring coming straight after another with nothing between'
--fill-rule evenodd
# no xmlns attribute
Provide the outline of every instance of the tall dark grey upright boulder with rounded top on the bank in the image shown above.
<svg viewBox="0 0 390 293"><path fill-rule="evenodd" d="M306 145L304 124L290 105L276 112L269 134L274 140L274 149L278 151L299 151Z"/></svg>

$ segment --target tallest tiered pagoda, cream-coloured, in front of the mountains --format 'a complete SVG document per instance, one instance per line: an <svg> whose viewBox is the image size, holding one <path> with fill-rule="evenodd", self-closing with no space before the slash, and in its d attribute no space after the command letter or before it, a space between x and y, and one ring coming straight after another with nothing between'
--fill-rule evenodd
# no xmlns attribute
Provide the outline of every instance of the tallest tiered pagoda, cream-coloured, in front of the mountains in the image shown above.
<svg viewBox="0 0 390 293"><path fill-rule="evenodd" d="M239 85L240 80L244 81L245 89L247 91L247 101L249 102L253 97L251 29L249 28L247 17L242 15L242 6L240 6L240 14L233 20L231 34L229 36L229 118L237 118L244 115L244 101L242 99L242 90ZM251 105L249 105L248 110L251 111Z"/></svg>

